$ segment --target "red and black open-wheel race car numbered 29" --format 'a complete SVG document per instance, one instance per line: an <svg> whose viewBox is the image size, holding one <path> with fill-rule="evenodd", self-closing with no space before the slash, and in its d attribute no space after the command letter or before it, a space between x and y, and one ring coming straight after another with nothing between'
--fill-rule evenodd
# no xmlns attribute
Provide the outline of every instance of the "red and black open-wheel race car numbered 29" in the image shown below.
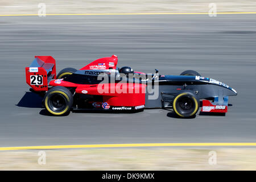
<svg viewBox="0 0 256 182"><path fill-rule="evenodd" d="M65 68L56 74L52 56L35 56L26 67L31 92L43 96L43 106L52 115L92 110L137 112L172 108L177 117L201 113L226 113L229 96L237 92L223 82L187 70L180 75L135 72L117 67L118 57L103 57L77 70ZM103 79L105 78L105 79ZM104 81L102 81L104 80Z"/></svg>

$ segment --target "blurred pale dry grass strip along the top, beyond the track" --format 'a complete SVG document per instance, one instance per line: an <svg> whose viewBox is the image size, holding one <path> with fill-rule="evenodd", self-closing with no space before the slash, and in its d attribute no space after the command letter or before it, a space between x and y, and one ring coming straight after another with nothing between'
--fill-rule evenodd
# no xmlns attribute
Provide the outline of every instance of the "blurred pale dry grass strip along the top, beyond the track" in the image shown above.
<svg viewBox="0 0 256 182"><path fill-rule="evenodd" d="M1 0L1 14L37 14L38 4L46 3L47 14L90 13L205 13L209 3L216 3L218 12L255 11L256 2L245 0Z"/></svg>

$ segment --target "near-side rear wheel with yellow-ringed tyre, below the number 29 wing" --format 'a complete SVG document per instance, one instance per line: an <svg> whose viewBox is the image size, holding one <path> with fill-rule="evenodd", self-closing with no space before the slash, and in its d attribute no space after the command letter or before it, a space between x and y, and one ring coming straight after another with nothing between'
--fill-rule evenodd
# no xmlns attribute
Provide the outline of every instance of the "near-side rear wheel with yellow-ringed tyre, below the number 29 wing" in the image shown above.
<svg viewBox="0 0 256 182"><path fill-rule="evenodd" d="M53 115L68 115L73 105L73 95L65 87L55 86L48 90L43 103Z"/></svg>

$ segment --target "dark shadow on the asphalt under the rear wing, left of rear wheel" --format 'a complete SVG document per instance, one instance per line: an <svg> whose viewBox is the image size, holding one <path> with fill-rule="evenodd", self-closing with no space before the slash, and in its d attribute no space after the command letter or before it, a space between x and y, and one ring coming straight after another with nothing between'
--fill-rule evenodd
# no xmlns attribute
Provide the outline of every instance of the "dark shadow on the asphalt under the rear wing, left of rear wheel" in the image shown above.
<svg viewBox="0 0 256 182"><path fill-rule="evenodd" d="M19 103L16 104L18 107L28 108L43 108L42 107L43 97L33 92L26 92L20 99Z"/></svg>

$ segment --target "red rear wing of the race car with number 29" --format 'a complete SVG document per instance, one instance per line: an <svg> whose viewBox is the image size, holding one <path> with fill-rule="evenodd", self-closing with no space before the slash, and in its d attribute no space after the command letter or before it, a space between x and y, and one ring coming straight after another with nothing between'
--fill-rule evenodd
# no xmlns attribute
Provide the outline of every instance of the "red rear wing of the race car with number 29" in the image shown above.
<svg viewBox="0 0 256 182"><path fill-rule="evenodd" d="M52 56L35 56L26 67L26 82L35 91L47 91L48 83L56 79L56 64Z"/></svg>

